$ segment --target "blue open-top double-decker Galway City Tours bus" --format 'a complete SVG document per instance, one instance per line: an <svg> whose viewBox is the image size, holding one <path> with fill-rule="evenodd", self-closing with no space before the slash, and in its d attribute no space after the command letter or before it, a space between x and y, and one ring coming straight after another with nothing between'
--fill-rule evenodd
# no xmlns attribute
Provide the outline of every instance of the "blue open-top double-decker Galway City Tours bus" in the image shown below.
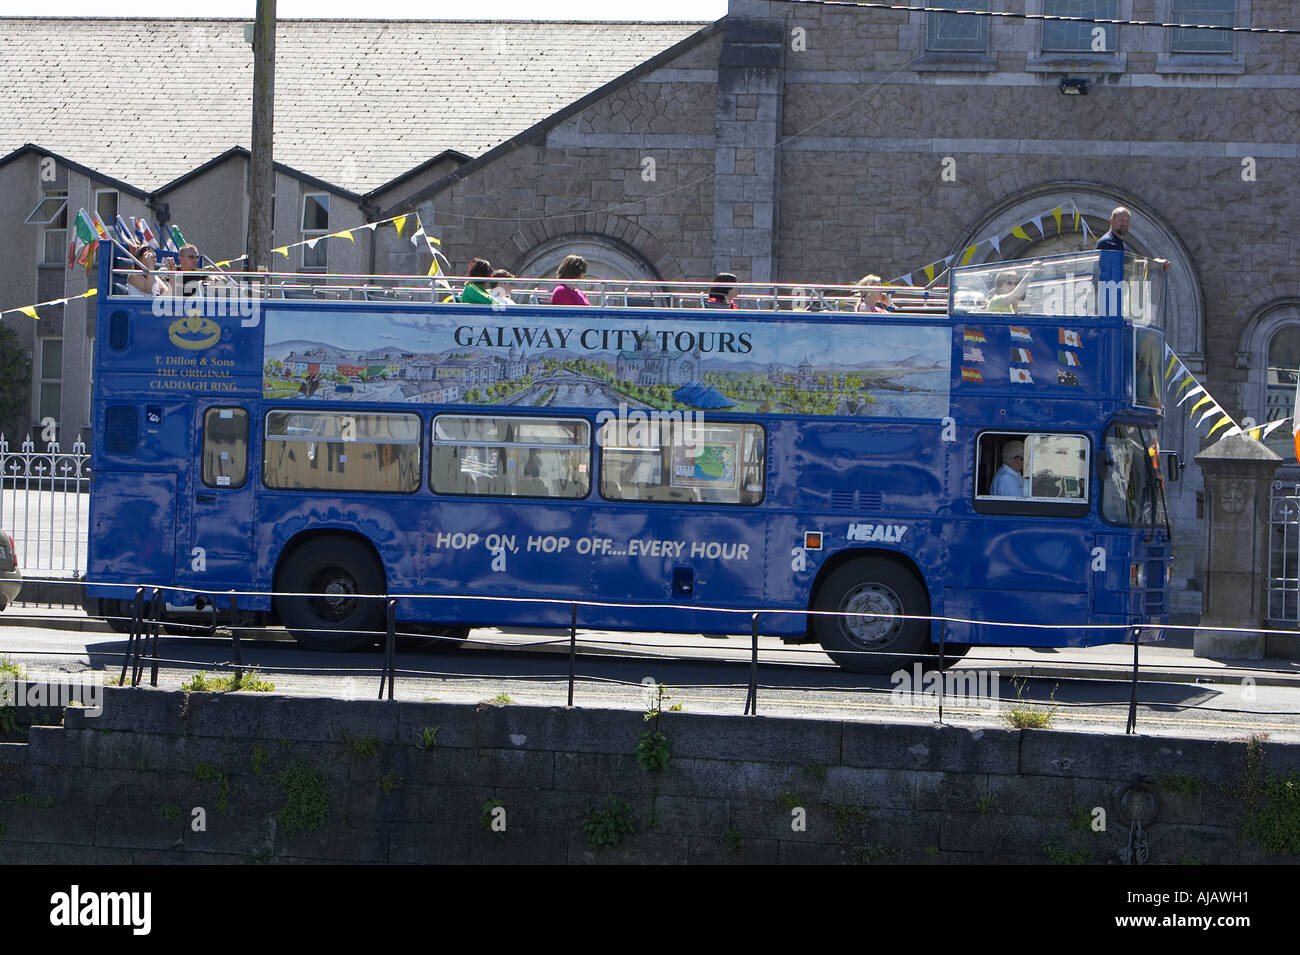
<svg viewBox="0 0 1300 955"><path fill-rule="evenodd" d="M473 305L411 277L147 298L103 252L92 615L138 586L177 615L237 592L235 622L344 650L384 630L370 595L450 635L569 624L541 600L649 633L759 611L864 672L941 635L1166 622L1161 288L1131 256L954 269L863 312L663 283Z"/></svg>

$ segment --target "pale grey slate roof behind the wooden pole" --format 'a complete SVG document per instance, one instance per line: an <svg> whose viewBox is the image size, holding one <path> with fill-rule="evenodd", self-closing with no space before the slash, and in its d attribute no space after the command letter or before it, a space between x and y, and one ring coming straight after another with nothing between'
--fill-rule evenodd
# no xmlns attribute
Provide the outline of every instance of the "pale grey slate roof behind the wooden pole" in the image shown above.
<svg viewBox="0 0 1300 955"><path fill-rule="evenodd" d="M0 156L34 143L152 191L247 147L246 22L0 18ZM478 156L705 26L281 21L276 161L369 192L445 149Z"/></svg>

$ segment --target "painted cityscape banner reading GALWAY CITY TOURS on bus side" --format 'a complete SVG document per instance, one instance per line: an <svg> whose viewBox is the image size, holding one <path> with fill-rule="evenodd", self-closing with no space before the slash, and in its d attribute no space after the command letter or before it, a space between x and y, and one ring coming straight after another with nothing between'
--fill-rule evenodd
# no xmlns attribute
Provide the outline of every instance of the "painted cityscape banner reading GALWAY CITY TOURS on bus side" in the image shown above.
<svg viewBox="0 0 1300 955"><path fill-rule="evenodd" d="M928 325L266 309L263 394L348 401L940 418Z"/></svg>

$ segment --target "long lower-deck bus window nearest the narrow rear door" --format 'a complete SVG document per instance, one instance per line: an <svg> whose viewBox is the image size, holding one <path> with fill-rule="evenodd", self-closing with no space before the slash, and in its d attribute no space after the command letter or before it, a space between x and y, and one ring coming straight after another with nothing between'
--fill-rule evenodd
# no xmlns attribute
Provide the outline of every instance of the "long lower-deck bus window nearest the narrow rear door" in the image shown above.
<svg viewBox="0 0 1300 955"><path fill-rule="evenodd" d="M277 490L411 494L420 487L420 418L268 412L263 482Z"/></svg>

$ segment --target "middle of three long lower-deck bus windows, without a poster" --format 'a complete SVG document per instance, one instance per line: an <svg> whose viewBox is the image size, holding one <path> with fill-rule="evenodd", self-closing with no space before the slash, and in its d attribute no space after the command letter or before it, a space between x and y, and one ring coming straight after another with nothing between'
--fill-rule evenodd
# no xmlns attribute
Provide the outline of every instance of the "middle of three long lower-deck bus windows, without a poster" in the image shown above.
<svg viewBox="0 0 1300 955"><path fill-rule="evenodd" d="M437 494L585 498L592 489L590 425L581 418L439 414L429 486Z"/></svg>

